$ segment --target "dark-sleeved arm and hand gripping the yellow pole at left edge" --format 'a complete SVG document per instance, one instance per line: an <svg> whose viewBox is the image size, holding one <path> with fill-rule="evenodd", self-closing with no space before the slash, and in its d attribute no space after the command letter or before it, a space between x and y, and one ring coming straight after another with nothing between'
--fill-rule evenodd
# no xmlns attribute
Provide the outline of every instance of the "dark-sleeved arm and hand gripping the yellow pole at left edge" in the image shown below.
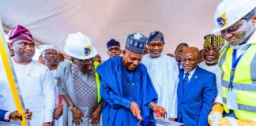
<svg viewBox="0 0 256 126"><path fill-rule="evenodd" d="M26 119L31 120L32 112L29 112L28 109L25 109L24 116ZM20 113L17 113L17 111L8 112L6 110L0 109L0 121L9 120L22 120L22 116Z"/></svg>

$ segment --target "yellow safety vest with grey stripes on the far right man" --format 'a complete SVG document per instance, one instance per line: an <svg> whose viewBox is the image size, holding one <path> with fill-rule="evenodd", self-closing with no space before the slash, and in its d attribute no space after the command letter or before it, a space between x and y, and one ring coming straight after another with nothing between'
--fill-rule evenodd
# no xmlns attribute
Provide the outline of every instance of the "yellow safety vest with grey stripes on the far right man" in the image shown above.
<svg viewBox="0 0 256 126"><path fill-rule="evenodd" d="M221 85L224 111L227 108L229 79L232 70L232 54L234 49L229 44L224 47L219 57L219 65L223 71ZM256 119L256 43L252 43L241 57L236 66L233 80L233 90L237 95L239 110L235 110L235 117L239 120Z"/></svg>

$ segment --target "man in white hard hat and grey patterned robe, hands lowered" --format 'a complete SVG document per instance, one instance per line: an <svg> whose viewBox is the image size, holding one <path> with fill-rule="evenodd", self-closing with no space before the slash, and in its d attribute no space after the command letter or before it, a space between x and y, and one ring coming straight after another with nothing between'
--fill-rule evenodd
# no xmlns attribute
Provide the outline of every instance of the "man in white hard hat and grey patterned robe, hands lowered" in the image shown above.
<svg viewBox="0 0 256 126"><path fill-rule="evenodd" d="M81 32L67 37L64 50L71 62L61 62L55 76L59 94L66 101L63 104L64 126L97 125L102 111L100 77L95 70L99 64L93 64L97 50Z"/></svg>

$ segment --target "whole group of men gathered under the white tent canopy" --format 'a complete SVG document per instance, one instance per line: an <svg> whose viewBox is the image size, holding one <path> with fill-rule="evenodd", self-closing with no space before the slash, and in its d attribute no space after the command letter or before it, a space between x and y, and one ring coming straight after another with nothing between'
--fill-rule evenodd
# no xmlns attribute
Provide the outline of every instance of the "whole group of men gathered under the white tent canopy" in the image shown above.
<svg viewBox="0 0 256 126"><path fill-rule="evenodd" d="M32 60L32 34L18 25L8 39L25 117L32 126L160 125L157 117L189 126L255 125L256 2L224 0L214 19L220 35L205 35L205 61L186 43L175 57L163 54L164 34L153 31L128 35L124 50L111 39L110 58L100 63L92 41L77 32L64 46L70 61L58 62L56 47L44 45L40 64ZM0 125L19 125L21 113L0 75Z"/></svg>

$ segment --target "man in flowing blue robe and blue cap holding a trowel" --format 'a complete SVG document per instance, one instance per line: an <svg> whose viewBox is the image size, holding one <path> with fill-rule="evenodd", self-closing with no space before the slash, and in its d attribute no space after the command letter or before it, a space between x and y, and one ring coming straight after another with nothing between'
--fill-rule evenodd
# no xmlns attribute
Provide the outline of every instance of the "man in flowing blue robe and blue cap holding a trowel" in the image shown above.
<svg viewBox="0 0 256 126"><path fill-rule="evenodd" d="M122 57L111 57L96 71L101 77L100 95L104 99L103 124L107 126L152 126L150 121L164 117L157 106L157 94L145 65L140 64L147 38L130 34Z"/></svg>

